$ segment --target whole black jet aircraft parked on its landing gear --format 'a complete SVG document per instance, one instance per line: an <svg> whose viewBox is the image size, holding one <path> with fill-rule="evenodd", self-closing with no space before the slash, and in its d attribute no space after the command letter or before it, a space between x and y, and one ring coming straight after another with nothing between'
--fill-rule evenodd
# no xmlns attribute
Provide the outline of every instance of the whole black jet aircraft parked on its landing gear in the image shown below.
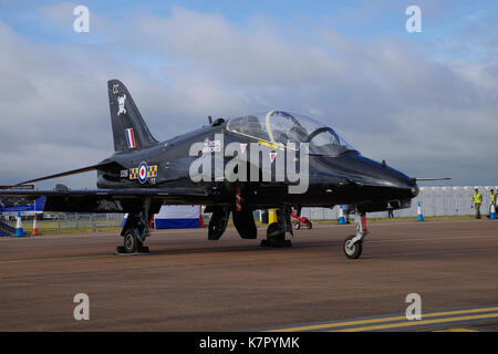
<svg viewBox="0 0 498 354"><path fill-rule="evenodd" d="M124 247L118 247L124 252L147 250L149 220L164 204L205 205L212 212L209 240L221 237L230 212L240 237L256 239L252 211L277 208L278 221L261 242L273 247L290 243L290 208L347 205L356 214L356 233L343 250L354 259L367 235L366 212L407 208L418 194L416 178L362 156L333 128L307 116L270 111L209 117L208 125L158 142L125 85L111 80L107 90L115 153L92 166L18 185L96 170L97 189L11 188L0 197L43 196L44 211L126 212Z"/></svg>

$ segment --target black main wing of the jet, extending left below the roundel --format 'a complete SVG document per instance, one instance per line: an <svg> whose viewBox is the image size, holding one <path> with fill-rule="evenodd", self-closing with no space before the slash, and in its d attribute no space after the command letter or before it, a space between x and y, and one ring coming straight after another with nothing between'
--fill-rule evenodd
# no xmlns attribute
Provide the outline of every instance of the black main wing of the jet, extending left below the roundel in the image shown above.
<svg viewBox="0 0 498 354"><path fill-rule="evenodd" d="M0 190L0 200L7 198L38 199L45 197L43 211L61 212L128 212L141 208L149 197L154 208L166 204L196 205L209 197L204 189L55 189L55 190Z"/></svg>

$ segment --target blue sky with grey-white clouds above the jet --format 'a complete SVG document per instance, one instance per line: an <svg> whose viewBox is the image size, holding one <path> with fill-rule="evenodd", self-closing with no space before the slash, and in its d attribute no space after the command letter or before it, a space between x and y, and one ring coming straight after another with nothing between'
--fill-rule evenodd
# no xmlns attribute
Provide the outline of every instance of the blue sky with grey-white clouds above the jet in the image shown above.
<svg viewBox="0 0 498 354"><path fill-rule="evenodd" d="M453 178L421 185L497 186L497 1L0 0L0 185L112 155L118 79L159 140L279 108L412 177Z"/></svg>

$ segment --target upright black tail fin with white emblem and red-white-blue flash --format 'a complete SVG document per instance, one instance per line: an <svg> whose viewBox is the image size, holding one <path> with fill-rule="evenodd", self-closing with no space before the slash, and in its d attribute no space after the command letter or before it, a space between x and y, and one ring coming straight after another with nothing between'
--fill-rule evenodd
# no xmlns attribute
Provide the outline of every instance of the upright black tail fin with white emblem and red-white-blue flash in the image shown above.
<svg viewBox="0 0 498 354"><path fill-rule="evenodd" d="M133 152L158 144L142 118L126 86L118 80L107 81L114 150Z"/></svg>

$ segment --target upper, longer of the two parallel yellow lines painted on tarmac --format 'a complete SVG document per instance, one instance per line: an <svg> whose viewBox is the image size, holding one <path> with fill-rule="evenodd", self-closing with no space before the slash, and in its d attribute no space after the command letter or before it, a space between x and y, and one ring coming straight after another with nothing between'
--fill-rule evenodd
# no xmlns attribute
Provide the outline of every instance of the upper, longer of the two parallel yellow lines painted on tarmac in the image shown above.
<svg viewBox="0 0 498 354"><path fill-rule="evenodd" d="M498 311L498 308L470 309L470 310L423 313L422 316L423 317L437 317L437 316L444 316L444 315L469 314L469 313L490 312L490 311ZM334 323L321 323L321 324L311 324L311 325L304 325L304 326L299 326L299 327L269 330L269 332L313 331L313 330L336 329L336 327L353 326L353 325L359 325L359 324L383 323L383 322L392 322L392 321L407 321L407 320L406 320L406 316L377 317L377 319L369 319L369 320L356 320L356 321L334 322ZM421 323L422 321L424 321L424 320L414 321L414 322Z"/></svg>

